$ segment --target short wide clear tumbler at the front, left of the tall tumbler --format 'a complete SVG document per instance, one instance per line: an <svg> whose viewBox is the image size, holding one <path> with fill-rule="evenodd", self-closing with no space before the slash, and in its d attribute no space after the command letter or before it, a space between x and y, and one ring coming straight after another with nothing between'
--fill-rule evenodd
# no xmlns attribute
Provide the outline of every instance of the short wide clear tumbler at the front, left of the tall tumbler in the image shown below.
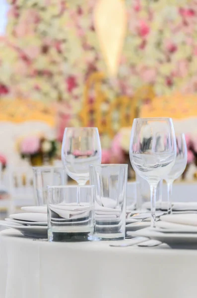
<svg viewBox="0 0 197 298"><path fill-rule="evenodd" d="M88 241L94 232L94 186L48 186L49 241Z"/></svg>

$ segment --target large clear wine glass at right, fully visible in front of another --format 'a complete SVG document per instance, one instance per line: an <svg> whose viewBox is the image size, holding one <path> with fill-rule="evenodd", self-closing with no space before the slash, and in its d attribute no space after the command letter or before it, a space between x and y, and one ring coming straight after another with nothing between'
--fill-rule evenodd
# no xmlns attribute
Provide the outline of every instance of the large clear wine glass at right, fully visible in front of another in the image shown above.
<svg viewBox="0 0 197 298"><path fill-rule="evenodd" d="M155 226L158 182L167 175L176 159L176 138L171 118L133 120L130 160L134 171L150 185L151 226Z"/></svg>

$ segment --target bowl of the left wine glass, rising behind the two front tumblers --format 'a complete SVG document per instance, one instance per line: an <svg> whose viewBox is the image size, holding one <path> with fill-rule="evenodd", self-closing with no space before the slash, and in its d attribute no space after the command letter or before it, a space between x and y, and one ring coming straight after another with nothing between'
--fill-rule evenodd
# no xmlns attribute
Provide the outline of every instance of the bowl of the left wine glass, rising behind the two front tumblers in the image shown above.
<svg viewBox="0 0 197 298"><path fill-rule="evenodd" d="M66 128L62 144L62 161L67 174L78 185L89 180L89 165L101 163L101 143L95 127Z"/></svg>

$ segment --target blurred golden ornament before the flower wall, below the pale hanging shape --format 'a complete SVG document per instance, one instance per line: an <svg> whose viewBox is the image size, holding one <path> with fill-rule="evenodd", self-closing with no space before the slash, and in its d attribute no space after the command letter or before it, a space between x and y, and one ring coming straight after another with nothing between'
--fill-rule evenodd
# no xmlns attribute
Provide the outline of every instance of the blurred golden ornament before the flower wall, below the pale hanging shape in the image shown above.
<svg viewBox="0 0 197 298"><path fill-rule="evenodd" d="M117 129L114 127L113 116L115 112L119 113L119 128L131 127L134 118L138 117L138 111L146 98L153 99L155 93L151 86L143 86L139 88L135 95L130 98L128 96L119 96L109 102L107 91L102 90L102 84L106 76L103 73L91 74L84 86L82 109L79 113L82 126L89 126L93 117L94 126L98 127L101 134L105 133L113 138ZM94 102L89 102L89 94L94 91ZM102 105L107 104L108 108L102 111Z"/></svg>

